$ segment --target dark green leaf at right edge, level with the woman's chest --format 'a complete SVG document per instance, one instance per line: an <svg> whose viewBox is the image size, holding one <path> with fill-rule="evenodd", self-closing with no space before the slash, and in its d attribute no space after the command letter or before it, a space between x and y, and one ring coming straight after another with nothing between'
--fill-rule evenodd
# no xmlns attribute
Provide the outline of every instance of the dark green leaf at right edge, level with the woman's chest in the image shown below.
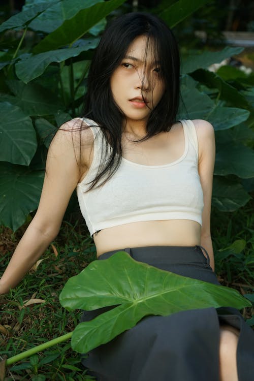
<svg viewBox="0 0 254 381"><path fill-rule="evenodd" d="M215 169L216 175L237 175L240 178L254 177L254 151L235 142L233 139L228 144L216 143Z"/></svg>

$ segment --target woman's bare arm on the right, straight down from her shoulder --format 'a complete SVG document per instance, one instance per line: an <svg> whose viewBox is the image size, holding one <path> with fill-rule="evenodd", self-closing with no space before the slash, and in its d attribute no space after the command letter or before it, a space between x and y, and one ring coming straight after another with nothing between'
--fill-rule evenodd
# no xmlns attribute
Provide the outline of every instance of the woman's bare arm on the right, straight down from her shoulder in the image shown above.
<svg viewBox="0 0 254 381"><path fill-rule="evenodd" d="M206 120L193 120L197 131L199 144L198 171L204 194L204 209L202 213L201 246L204 246L210 257L210 266L214 271L214 256L210 232L212 180L215 161L215 138L211 123Z"/></svg>

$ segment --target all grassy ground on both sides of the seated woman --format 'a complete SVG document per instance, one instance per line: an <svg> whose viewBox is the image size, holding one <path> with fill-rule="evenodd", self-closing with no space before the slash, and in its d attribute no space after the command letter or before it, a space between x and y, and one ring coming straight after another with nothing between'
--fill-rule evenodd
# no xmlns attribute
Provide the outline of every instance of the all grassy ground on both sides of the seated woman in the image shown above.
<svg viewBox="0 0 254 381"><path fill-rule="evenodd" d="M242 294L254 291L253 201L233 213L212 212L212 236L216 273L224 285ZM0 266L6 267L24 227L15 234L0 230ZM233 246L232 246L233 244ZM0 356L8 358L54 337L72 331L80 311L68 312L58 302L67 279L79 273L96 258L94 245L82 224L63 222L57 239L9 295L0 297ZM253 295L252 295L253 297ZM250 297L250 298L252 298ZM249 308L243 311L253 324ZM252 319L252 320L251 320ZM58 344L43 353L11 366L5 381L79 381L92 379L80 363L80 355L70 342Z"/></svg>

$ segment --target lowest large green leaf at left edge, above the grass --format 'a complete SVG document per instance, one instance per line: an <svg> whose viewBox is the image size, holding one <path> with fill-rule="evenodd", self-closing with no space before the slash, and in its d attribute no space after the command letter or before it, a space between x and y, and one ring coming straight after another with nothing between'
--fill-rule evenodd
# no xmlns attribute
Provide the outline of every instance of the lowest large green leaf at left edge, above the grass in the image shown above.
<svg viewBox="0 0 254 381"><path fill-rule="evenodd" d="M0 163L0 224L17 230L39 204L44 171Z"/></svg>

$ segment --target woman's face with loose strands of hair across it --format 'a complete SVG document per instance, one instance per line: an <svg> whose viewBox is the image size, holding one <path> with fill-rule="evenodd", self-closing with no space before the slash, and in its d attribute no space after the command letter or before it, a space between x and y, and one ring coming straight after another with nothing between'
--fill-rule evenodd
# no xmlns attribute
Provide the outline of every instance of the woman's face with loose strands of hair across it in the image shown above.
<svg viewBox="0 0 254 381"><path fill-rule="evenodd" d="M147 121L160 102L165 84L160 76L160 65L154 62L146 36L137 37L111 76L114 101L128 120Z"/></svg>

